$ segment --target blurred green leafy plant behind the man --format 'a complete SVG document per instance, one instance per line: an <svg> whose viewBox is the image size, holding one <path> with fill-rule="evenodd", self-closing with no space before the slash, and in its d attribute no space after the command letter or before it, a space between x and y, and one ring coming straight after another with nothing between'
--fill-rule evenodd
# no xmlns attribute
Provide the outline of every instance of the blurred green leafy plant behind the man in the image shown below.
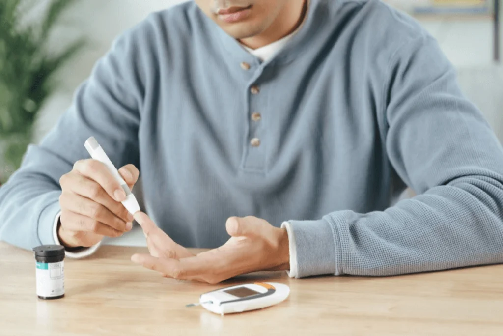
<svg viewBox="0 0 503 336"><path fill-rule="evenodd" d="M0 183L21 165L43 104L58 88L56 72L87 43L78 38L52 52L51 32L80 0L47 0L41 20L26 16L40 0L0 0Z"/></svg>

